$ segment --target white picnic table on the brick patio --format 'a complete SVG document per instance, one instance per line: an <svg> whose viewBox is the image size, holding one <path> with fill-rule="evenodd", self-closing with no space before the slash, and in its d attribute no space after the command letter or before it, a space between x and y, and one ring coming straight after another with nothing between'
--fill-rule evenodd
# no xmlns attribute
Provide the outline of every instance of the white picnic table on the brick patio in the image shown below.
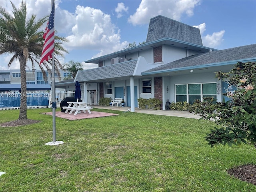
<svg viewBox="0 0 256 192"><path fill-rule="evenodd" d="M66 109L65 113L67 113L69 110L69 114L72 114L73 111L75 111L74 115L80 113L81 111L83 111L84 113L86 113L86 110L88 111L89 114L91 114L92 112L90 112L90 110L92 109L92 107L88 106L89 103L86 102L67 102L68 106L63 106L63 109Z"/></svg>

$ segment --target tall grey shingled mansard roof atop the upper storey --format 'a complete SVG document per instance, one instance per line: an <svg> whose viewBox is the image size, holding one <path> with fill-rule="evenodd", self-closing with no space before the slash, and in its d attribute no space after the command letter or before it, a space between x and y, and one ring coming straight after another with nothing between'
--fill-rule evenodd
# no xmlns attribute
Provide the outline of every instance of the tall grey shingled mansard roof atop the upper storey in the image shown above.
<svg viewBox="0 0 256 192"><path fill-rule="evenodd" d="M203 45L198 28L159 15L150 19L146 42L148 43L162 38L172 38Z"/></svg>

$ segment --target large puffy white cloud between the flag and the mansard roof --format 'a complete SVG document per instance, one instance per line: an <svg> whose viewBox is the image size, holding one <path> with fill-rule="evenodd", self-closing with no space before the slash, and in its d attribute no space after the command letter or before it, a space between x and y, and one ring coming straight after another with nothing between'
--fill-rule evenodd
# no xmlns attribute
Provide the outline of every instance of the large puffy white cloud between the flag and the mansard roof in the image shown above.
<svg viewBox="0 0 256 192"><path fill-rule="evenodd" d="M72 27L72 35L65 46L69 49L100 50L98 54L108 54L122 49L120 30L111 22L110 15L99 9L76 7L76 24Z"/></svg>

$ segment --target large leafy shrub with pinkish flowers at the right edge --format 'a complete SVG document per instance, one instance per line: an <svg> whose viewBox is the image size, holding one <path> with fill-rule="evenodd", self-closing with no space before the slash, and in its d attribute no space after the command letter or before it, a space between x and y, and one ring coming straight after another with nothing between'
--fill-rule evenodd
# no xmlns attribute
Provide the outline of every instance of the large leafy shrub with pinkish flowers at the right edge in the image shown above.
<svg viewBox="0 0 256 192"><path fill-rule="evenodd" d="M229 146L241 143L254 144L256 148L256 64L238 62L228 73L216 72L216 78L227 81L237 90L227 92L230 100L216 102L205 98L194 102L191 111L204 119L215 120L215 127L207 134L206 140L211 147L217 144ZM216 102L216 104L214 103Z"/></svg>

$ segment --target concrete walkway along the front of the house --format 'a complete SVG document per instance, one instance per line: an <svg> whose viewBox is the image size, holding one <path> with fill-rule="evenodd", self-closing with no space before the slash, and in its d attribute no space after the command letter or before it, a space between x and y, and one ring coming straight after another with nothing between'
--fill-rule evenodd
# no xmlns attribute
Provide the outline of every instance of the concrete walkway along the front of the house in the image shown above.
<svg viewBox="0 0 256 192"><path fill-rule="evenodd" d="M112 107L112 106L101 106L101 105L96 105L96 106L93 106L93 107L94 108L99 108L99 109L118 110L118 111L128 111L128 109L130 109L130 107L116 107L116 106ZM200 116L194 115L194 114L192 114L188 111L152 110L152 109L135 108L135 112L136 113L154 114L154 115L166 115L166 116L194 118L194 119L201 118Z"/></svg>

